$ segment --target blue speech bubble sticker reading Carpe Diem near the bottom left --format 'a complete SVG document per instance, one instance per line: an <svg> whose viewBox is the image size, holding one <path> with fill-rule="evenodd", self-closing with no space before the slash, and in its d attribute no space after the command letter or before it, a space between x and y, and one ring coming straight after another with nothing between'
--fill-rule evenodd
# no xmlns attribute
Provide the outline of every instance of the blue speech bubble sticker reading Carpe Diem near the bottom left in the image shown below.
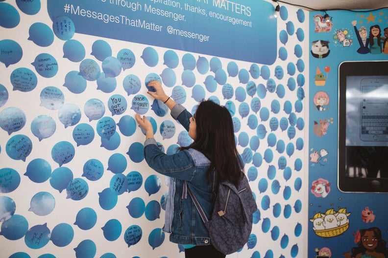
<svg viewBox="0 0 388 258"><path fill-rule="evenodd" d="M31 249L39 249L49 242L51 232L47 223L31 227L24 236L24 243ZM38 240L39 239L39 240Z"/></svg>

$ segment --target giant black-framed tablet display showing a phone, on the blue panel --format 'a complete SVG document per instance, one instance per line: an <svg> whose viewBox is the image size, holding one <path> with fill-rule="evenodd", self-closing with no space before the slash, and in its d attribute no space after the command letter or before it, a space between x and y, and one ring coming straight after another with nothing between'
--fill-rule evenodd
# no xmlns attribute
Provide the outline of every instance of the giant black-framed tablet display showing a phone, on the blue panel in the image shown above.
<svg viewBox="0 0 388 258"><path fill-rule="evenodd" d="M386 61L339 66L339 189L388 192Z"/></svg>

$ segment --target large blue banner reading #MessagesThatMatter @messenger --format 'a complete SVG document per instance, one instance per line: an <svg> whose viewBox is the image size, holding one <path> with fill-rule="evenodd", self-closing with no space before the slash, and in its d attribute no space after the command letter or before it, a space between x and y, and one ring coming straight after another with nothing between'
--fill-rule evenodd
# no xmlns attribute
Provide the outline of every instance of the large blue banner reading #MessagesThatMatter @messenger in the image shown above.
<svg viewBox="0 0 388 258"><path fill-rule="evenodd" d="M71 39L76 31L234 60L273 64L277 57L277 19L268 15L273 13L273 5L264 0L240 0L234 5L231 8L223 1L209 0L159 4L152 1L128 2L124 5L121 1L80 3L77 0L49 0L47 3L54 34L61 40ZM193 6L197 7L194 9ZM209 23L213 25L208 26ZM266 40L262 40L263 37ZM150 67L157 64L148 61L146 64Z"/></svg>

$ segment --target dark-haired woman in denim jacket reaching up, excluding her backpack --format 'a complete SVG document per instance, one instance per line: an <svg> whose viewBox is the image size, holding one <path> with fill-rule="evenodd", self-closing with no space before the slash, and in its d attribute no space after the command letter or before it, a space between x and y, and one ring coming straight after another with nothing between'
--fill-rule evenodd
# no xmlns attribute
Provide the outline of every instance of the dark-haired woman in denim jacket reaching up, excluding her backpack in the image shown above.
<svg viewBox="0 0 388 258"><path fill-rule="evenodd" d="M165 103L171 116L194 140L188 147L166 155L156 144L151 123L145 116L136 114L136 121L145 130L145 161L156 172L170 177L164 231L170 233L171 242L185 247L186 258L224 258L225 255L210 242L209 233L192 199L187 196L184 181L207 217L213 210L218 182L229 180L236 186L239 184L243 165L236 149L232 116L227 108L212 101L201 102L192 116L167 96L158 81L152 81L148 86L155 92L147 93Z"/></svg>

